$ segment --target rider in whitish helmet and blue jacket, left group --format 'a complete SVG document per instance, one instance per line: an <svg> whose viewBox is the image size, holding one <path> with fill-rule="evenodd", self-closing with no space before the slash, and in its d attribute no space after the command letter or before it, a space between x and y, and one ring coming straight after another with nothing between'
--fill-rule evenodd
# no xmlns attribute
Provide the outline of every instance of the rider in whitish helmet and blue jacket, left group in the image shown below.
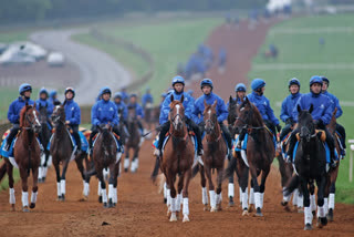
<svg viewBox="0 0 354 237"><path fill-rule="evenodd" d="M65 124L72 130L73 137L76 142L77 148L76 148L76 154L77 152L81 151L81 138L79 135L79 125L81 123L81 110L80 106L77 105L76 102L74 102L75 97L75 90L73 87L66 87L65 89Z"/></svg>

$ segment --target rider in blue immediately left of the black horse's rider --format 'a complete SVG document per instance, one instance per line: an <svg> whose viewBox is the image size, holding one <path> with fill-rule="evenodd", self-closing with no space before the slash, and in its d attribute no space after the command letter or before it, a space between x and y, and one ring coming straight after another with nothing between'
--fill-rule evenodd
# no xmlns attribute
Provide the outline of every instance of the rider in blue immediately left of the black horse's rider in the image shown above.
<svg viewBox="0 0 354 237"><path fill-rule="evenodd" d="M298 79L290 79L288 87L290 95L288 95L281 104L280 118L285 123L285 126L280 133L280 141L283 141L283 138L291 132L293 125L295 124L293 110L302 95L300 93L300 81Z"/></svg>

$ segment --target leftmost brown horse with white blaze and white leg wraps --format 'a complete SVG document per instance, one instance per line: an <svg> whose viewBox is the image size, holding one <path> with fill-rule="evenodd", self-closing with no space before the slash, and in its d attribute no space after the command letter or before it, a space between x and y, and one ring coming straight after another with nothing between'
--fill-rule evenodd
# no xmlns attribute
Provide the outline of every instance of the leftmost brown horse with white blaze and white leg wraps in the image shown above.
<svg viewBox="0 0 354 237"><path fill-rule="evenodd" d="M13 147L13 158L4 158L7 163L7 172L9 175L10 187L10 204L12 210L14 210L14 189L13 189L13 165L19 167L20 177L22 183L22 210L24 213L29 210L29 193L28 193L28 177L32 171L33 187L31 194L30 208L35 207L38 195L38 168L41 163L41 148L37 140L37 134L40 132L41 124L38 120L38 112L35 105L28 105L21 110L20 113L20 128L21 132L18 135L17 142Z"/></svg>

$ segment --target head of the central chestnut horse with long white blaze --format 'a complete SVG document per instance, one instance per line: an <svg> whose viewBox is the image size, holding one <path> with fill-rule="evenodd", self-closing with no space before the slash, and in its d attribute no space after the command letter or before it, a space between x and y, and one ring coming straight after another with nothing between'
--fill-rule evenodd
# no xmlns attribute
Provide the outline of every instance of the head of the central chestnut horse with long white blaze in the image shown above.
<svg viewBox="0 0 354 237"><path fill-rule="evenodd" d="M174 131L183 131L184 130L184 121L185 121L185 107L184 102L185 97L181 95L180 101L175 101L174 95L170 96L169 104L169 121L174 127Z"/></svg>

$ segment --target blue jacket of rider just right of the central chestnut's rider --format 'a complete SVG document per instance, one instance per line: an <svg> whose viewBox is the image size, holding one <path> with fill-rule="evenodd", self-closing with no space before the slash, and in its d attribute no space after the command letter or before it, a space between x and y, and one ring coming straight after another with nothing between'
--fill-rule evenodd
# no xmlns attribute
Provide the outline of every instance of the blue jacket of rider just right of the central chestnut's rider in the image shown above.
<svg viewBox="0 0 354 237"><path fill-rule="evenodd" d="M196 100L195 111L192 113L192 120L195 121L195 123L199 124L204 121L202 113L205 110L205 100L207 101L207 104L214 104L215 101L218 102L216 107L218 122L222 123L222 121L225 121L228 117L229 112L227 106L225 105L223 100L219 95L214 94L212 92L209 95L204 94Z"/></svg>

